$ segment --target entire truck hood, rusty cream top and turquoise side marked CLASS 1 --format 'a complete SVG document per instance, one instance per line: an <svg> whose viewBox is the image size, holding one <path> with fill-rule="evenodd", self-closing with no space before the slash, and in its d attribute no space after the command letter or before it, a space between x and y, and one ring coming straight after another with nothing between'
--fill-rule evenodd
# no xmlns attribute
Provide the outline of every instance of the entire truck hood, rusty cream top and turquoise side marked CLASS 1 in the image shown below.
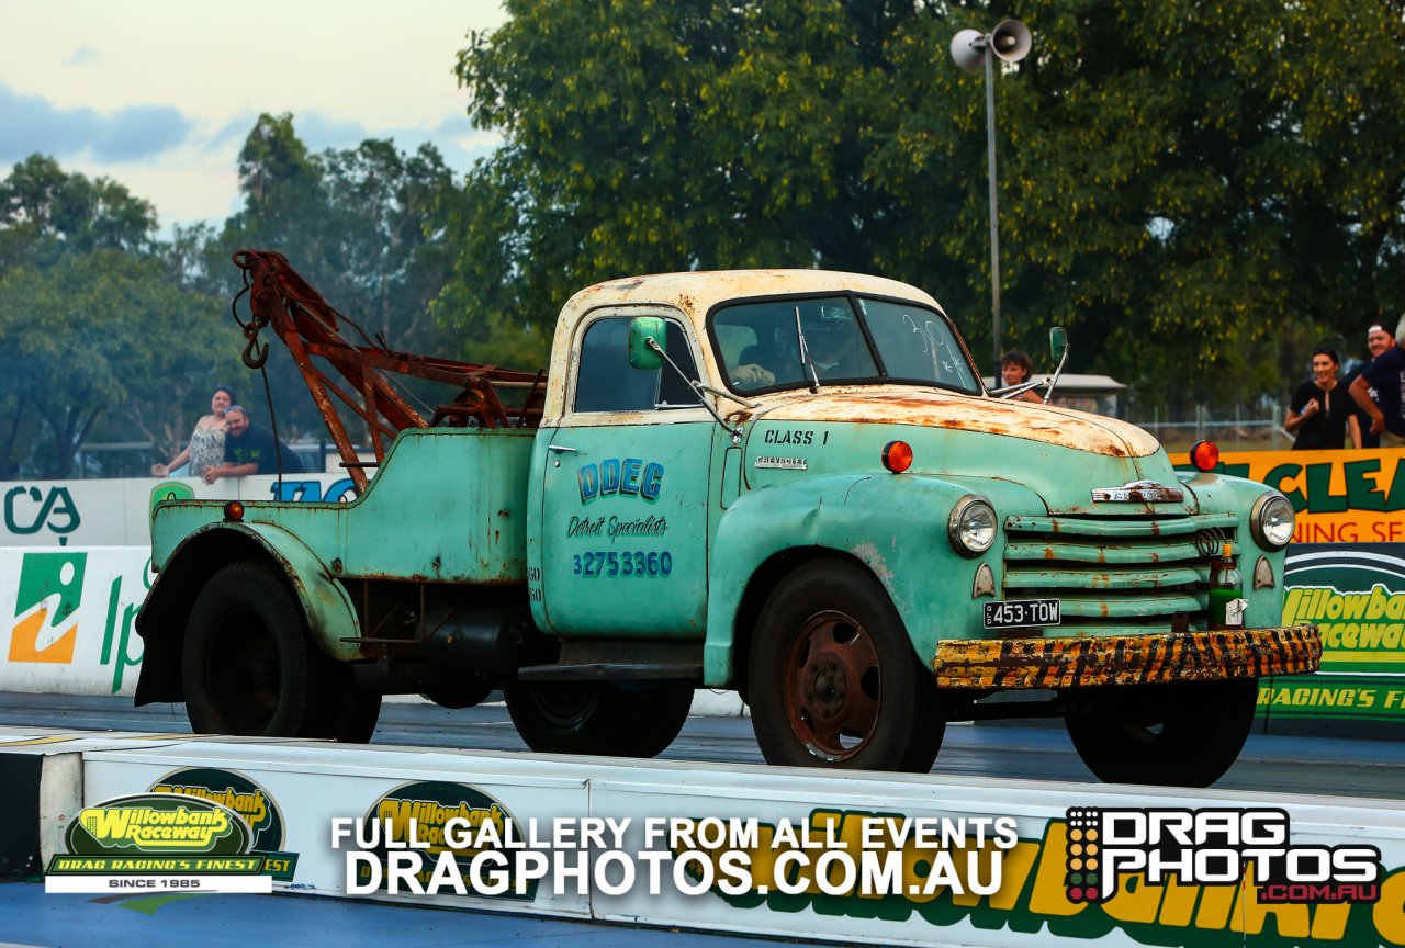
<svg viewBox="0 0 1405 948"><path fill-rule="evenodd" d="M805 431L813 434L806 438ZM1125 517L1198 508L1161 444L1135 426L1076 409L899 386L766 399L746 426L745 463L754 486L804 476L799 469L819 475L873 466L884 473L878 459L891 440L912 445L913 475L1023 485L1052 514ZM1183 500L1093 500L1093 489L1139 480L1179 487Z"/></svg>

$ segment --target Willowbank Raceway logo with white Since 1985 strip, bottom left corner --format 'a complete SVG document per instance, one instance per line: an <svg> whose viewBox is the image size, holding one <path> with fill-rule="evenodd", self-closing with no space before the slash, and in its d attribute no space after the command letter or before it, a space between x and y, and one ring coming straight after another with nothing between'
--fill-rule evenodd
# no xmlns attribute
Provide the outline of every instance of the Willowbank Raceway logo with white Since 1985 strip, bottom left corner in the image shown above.
<svg viewBox="0 0 1405 948"><path fill-rule="evenodd" d="M138 794L84 808L49 861L46 892L273 890L240 816L198 796Z"/></svg>

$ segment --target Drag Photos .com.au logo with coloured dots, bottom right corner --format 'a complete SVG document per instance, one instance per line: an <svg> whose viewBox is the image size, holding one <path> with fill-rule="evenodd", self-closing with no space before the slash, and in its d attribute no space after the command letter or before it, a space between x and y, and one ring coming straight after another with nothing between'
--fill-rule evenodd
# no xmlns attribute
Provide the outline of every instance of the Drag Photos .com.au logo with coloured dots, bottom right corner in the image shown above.
<svg viewBox="0 0 1405 948"><path fill-rule="evenodd" d="M1239 886L1252 878L1260 904L1375 903L1374 845L1294 845L1280 809L1071 809L1069 902L1104 903L1121 876L1151 885Z"/></svg>

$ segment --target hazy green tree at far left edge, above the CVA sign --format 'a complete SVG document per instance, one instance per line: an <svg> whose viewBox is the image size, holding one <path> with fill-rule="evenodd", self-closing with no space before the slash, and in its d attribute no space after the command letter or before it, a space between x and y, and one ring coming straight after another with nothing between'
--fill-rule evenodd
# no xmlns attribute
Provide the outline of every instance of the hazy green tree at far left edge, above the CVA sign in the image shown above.
<svg viewBox="0 0 1405 948"><path fill-rule="evenodd" d="M0 181L0 478L69 476L97 433L184 442L229 360L219 305L170 278L155 229L146 201L48 157Z"/></svg>

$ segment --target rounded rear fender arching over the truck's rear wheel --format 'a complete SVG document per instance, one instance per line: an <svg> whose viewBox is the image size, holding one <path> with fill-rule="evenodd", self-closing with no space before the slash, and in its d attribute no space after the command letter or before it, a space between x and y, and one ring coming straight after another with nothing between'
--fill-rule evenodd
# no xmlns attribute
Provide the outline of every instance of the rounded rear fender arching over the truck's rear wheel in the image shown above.
<svg viewBox="0 0 1405 948"><path fill-rule="evenodd" d="M208 524L171 552L136 617L145 642L138 705L184 699L181 652L195 597L216 570L242 559L266 559L282 570L319 649L334 659L360 657L355 643L343 642L360 635L350 597L296 536L268 524Z"/></svg>

